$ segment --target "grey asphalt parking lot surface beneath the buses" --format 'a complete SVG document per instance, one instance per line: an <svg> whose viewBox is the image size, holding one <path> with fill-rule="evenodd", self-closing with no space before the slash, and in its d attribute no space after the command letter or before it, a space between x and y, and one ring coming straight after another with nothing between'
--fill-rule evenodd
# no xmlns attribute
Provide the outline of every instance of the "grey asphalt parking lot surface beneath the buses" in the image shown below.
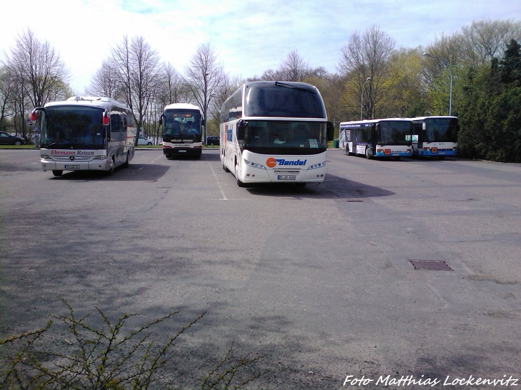
<svg viewBox="0 0 521 390"><path fill-rule="evenodd" d="M179 310L159 336L205 312L172 357L181 388L232 342L264 356L248 388L521 378L519 164L331 150L323 184L245 189L218 150L138 150L108 177L38 161L0 150L2 336L65 299L111 318ZM441 383L392 381L407 375Z"/></svg>

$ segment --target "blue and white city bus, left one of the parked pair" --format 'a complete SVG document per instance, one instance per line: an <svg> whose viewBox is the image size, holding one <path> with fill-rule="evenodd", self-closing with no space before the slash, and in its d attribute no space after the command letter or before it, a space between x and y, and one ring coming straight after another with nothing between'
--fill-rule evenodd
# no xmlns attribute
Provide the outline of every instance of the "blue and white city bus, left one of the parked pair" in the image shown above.
<svg viewBox="0 0 521 390"><path fill-rule="evenodd" d="M411 157L412 121L407 118L340 122L339 147L345 154L373 157Z"/></svg>

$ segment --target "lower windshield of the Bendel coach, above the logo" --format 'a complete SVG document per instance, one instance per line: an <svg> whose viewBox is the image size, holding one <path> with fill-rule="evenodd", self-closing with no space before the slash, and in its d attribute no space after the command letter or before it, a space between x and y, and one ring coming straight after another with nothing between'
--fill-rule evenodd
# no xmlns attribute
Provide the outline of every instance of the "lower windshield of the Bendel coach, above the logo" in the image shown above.
<svg viewBox="0 0 521 390"><path fill-rule="evenodd" d="M317 154L327 148L326 122L249 120L243 149L261 154Z"/></svg>

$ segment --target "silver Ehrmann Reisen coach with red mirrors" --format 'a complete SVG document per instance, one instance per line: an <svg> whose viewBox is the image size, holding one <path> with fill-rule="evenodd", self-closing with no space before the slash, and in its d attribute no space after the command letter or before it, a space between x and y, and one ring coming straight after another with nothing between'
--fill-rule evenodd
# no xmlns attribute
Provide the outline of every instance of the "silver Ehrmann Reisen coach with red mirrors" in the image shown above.
<svg viewBox="0 0 521 390"><path fill-rule="evenodd" d="M134 157L132 111L106 97L71 97L47 103L41 113L40 158L44 171L107 171L128 166Z"/></svg>

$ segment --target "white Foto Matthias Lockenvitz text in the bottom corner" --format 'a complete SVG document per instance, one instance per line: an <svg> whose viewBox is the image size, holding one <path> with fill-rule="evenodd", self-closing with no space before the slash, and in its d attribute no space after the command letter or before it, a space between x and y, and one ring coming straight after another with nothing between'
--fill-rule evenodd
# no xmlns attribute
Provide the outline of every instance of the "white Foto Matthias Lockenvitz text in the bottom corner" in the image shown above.
<svg viewBox="0 0 521 390"><path fill-rule="evenodd" d="M370 383L375 382L374 379L367 378L362 375L361 378L355 378L354 375L347 375L344 380L345 385L351 386L366 386ZM443 386L518 386L519 379L513 378L510 375L506 378L503 375L502 379L490 379L490 378L476 378L474 375L468 376L468 378L457 378L447 375L445 380L442 381L438 378L425 378L425 375L421 375L420 378L415 378L414 375L402 375L401 378L391 378L391 375L383 376L380 375L376 380L375 385L382 384L384 386L436 386L442 383Z"/></svg>

